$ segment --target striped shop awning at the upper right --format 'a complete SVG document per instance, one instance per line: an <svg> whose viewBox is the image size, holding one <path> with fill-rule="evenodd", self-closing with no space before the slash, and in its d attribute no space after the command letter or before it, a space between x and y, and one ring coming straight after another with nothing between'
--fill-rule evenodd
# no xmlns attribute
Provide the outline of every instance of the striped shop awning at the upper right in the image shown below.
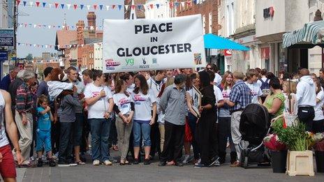
<svg viewBox="0 0 324 182"><path fill-rule="evenodd" d="M324 20L311 22L304 28L283 34L283 48L292 45L321 45L324 43Z"/></svg>

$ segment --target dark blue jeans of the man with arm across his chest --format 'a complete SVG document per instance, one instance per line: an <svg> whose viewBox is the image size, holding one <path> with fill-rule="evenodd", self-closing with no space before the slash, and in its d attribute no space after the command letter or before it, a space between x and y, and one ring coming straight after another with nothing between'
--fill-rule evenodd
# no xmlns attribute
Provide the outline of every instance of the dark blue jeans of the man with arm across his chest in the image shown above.
<svg viewBox="0 0 324 182"><path fill-rule="evenodd" d="M108 138L111 119L89 119L92 160L109 160Z"/></svg>

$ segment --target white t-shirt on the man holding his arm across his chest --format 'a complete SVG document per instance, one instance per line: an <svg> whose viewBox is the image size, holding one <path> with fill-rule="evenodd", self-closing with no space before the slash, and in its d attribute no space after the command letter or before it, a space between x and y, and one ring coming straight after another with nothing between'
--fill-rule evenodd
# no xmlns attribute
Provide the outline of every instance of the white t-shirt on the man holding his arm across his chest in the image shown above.
<svg viewBox="0 0 324 182"><path fill-rule="evenodd" d="M103 116L105 112L108 112L109 102L108 100L112 98L112 93L108 86L95 86L94 84L87 84L84 89L84 98L93 98L100 94L100 92L105 91L105 97L100 98L93 105L88 105L88 119L104 119Z"/></svg>

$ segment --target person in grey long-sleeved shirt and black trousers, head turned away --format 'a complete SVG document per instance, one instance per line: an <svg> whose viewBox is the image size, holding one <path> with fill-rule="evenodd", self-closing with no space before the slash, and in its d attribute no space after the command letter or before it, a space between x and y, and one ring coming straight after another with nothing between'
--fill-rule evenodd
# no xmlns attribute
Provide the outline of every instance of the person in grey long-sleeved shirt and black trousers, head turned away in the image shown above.
<svg viewBox="0 0 324 182"><path fill-rule="evenodd" d="M159 166L165 166L167 162L168 165L183 166L180 158L184 146L186 119L185 82L185 75L177 75L175 84L168 86L161 96L160 108L165 114L165 141Z"/></svg>

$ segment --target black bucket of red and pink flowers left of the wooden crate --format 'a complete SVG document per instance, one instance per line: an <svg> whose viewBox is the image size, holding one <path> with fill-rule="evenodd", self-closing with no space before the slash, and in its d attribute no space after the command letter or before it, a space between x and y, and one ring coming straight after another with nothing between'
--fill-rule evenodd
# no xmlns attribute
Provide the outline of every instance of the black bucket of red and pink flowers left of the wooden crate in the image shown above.
<svg viewBox="0 0 324 182"><path fill-rule="evenodd" d="M271 153L271 166L274 173L286 172L287 146L279 141L277 134L267 135L263 144Z"/></svg>

